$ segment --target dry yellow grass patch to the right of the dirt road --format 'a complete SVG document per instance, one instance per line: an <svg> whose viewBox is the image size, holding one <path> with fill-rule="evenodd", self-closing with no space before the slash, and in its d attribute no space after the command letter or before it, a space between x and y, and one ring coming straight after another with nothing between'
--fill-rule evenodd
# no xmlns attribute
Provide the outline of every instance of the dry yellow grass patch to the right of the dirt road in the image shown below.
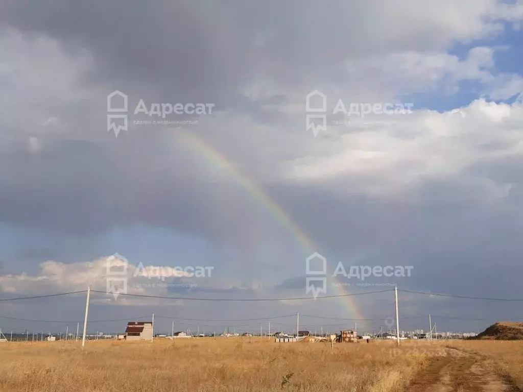
<svg viewBox="0 0 523 392"><path fill-rule="evenodd" d="M523 390L523 341L471 340L454 341L448 345L491 358L497 372Z"/></svg>

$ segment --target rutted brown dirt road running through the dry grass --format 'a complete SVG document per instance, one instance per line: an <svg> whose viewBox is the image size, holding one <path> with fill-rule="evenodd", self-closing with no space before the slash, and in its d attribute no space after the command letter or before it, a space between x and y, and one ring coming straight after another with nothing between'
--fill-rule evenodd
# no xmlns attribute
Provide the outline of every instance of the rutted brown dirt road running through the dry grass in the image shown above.
<svg viewBox="0 0 523 392"><path fill-rule="evenodd" d="M485 356L448 348L420 372L408 392L521 392Z"/></svg>

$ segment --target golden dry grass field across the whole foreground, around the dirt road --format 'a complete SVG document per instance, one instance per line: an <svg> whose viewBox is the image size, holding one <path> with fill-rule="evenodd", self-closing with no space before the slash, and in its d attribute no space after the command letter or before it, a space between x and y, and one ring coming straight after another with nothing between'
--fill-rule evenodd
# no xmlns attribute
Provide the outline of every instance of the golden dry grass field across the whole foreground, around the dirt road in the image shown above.
<svg viewBox="0 0 523 392"><path fill-rule="evenodd" d="M398 349L393 341L375 341L335 343L331 348L330 343L246 337L89 341L84 350L78 342L14 342L0 346L0 390L425 391L454 360L470 363L487 354L503 360L496 372L511 375L521 385L521 342L404 341Z"/></svg>

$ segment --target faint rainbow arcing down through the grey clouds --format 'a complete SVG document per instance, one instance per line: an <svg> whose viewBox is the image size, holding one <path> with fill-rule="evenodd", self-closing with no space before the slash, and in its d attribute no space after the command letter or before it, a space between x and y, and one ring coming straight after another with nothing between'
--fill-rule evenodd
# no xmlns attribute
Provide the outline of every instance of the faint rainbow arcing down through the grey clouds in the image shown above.
<svg viewBox="0 0 523 392"><path fill-rule="evenodd" d="M287 214L285 210L283 210L282 207L276 203L276 201L271 198L267 192L265 192L253 180L247 177L236 165L231 163L225 156L223 156L223 154L218 152L209 143L204 142L201 137L198 137L195 133L185 132L180 129L176 129L176 131L177 139L185 147L188 147L191 152L194 152L195 154L198 154L199 156L206 159L210 165L225 169L249 194L252 195L253 198L255 198L261 205L265 206L266 209L270 212L271 216L279 224L290 230L292 235L298 241L302 250L307 255L312 255L312 253L316 252L316 248L314 247L312 241L308 236L305 235L301 227L293 222L289 214ZM331 276L332 273L327 273L328 278ZM334 283L334 278L332 278L331 282L327 282L329 285L328 287L334 287L339 295L348 294L344 290L343 285L333 285L332 283ZM350 317L354 319L363 319L361 313L353 301L353 297L344 296L339 298L340 301L344 302L344 307L349 310Z"/></svg>

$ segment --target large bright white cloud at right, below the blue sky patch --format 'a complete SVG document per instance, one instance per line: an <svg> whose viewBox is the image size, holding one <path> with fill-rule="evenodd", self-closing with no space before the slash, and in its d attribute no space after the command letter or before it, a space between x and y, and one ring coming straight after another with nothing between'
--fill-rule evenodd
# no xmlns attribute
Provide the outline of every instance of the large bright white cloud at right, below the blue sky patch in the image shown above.
<svg viewBox="0 0 523 392"><path fill-rule="evenodd" d="M466 116L415 111L395 125L355 126L342 137L319 142L332 147L328 154L290 161L288 178L348 181L347 191L387 195L523 153L523 135L517 131L523 105L480 99L459 110Z"/></svg>

